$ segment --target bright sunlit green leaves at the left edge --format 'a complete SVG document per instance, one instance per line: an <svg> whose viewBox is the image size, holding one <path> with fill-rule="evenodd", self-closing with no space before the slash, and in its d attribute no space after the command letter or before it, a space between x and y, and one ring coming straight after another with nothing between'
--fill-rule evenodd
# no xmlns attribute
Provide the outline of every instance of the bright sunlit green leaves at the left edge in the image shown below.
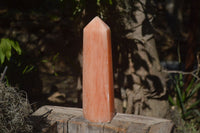
<svg viewBox="0 0 200 133"><path fill-rule="evenodd" d="M21 55L21 48L18 42L10 40L8 38L2 38L0 41L0 61L1 64L5 62L5 59L9 61L12 56L12 49L14 49L19 55Z"/></svg>

